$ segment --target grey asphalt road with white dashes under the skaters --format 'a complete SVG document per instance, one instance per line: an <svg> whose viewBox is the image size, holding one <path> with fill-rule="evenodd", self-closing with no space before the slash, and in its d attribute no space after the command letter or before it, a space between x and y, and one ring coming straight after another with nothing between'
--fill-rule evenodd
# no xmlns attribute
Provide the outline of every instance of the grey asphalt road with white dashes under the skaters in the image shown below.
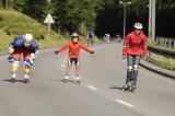
<svg viewBox="0 0 175 116"><path fill-rule="evenodd" d="M31 82L9 82L11 66L0 58L0 116L175 116L175 81L143 68L135 93L122 92L126 61L120 44L92 47L94 55L81 53L81 84L61 80L67 51L42 50L35 60Z"/></svg>

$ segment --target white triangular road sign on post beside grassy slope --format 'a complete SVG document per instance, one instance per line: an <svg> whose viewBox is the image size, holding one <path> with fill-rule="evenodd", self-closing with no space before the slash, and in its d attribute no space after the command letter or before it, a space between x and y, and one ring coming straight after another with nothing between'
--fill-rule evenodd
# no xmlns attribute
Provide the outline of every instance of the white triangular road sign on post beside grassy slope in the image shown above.
<svg viewBox="0 0 175 116"><path fill-rule="evenodd" d="M47 18L45 19L44 23L47 24L47 33L49 35L51 24L55 23L55 21L52 20L52 16L51 16L50 13L47 15Z"/></svg>

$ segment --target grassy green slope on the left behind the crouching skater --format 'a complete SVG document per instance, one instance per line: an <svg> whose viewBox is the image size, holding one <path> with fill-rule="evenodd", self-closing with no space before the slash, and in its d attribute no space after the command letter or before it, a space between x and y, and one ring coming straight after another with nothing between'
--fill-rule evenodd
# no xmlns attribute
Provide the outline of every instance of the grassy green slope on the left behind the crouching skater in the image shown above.
<svg viewBox="0 0 175 116"><path fill-rule="evenodd" d="M67 42L54 31L48 36L47 26L25 14L14 10L0 9L0 51L5 50L14 37L25 33L32 33L40 48L58 46Z"/></svg>

